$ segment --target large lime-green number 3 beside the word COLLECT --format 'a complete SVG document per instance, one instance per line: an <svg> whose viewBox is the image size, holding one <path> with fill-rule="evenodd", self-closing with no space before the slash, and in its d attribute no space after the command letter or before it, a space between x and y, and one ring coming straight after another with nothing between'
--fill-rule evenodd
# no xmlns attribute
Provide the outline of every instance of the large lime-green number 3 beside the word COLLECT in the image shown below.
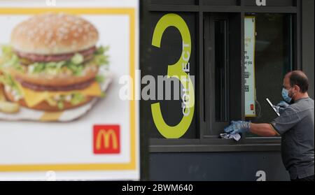
<svg viewBox="0 0 315 195"><path fill-rule="evenodd" d="M178 62L167 66L167 78L179 78L181 85L183 85L183 89L188 89L189 93L186 96L186 99L189 101L187 101L188 103L185 107L183 107L183 118L181 119L181 122L173 127L166 124L163 119L160 103L151 104L151 110L155 126L162 136L165 138L180 138L190 127L195 110L195 92L193 82L190 80L189 75L183 71L183 68L187 66L190 58L191 39L188 26L183 18L174 13L169 13L161 17L158 24L156 24L153 32L152 45L160 48L162 35L168 27L176 27L179 29L183 40L183 51Z"/></svg>

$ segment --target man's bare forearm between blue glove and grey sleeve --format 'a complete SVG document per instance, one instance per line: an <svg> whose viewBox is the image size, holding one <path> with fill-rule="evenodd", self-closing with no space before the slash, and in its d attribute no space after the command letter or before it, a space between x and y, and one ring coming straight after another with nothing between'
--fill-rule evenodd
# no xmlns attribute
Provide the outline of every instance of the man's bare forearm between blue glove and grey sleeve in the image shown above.
<svg viewBox="0 0 315 195"><path fill-rule="evenodd" d="M268 123L250 123L249 124L249 131L253 134L256 134L258 136L264 136L264 137L272 137L272 136L279 136L279 133L274 130L274 127L272 127L271 124Z"/></svg>

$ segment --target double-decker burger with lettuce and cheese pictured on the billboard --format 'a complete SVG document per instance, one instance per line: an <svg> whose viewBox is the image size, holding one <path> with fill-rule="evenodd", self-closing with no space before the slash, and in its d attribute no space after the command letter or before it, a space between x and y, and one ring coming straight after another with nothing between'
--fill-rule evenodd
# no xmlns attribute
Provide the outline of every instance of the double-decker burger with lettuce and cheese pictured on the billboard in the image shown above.
<svg viewBox="0 0 315 195"><path fill-rule="evenodd" d="M12 31L0 57L6 99L34 110L61 111L101 97L99 68L108 64L99 33L65 13L30 17Z"/></svg>

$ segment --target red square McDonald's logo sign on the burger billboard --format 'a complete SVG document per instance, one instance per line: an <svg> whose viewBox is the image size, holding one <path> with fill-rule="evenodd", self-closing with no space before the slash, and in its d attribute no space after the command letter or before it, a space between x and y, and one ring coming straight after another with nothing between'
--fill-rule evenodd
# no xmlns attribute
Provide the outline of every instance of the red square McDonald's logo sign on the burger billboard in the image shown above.
<svg viewBox="0 0 315 195"><path fill-rule="evenodd" d="M94 154L119 154L120 126L94 125L93 150Z"/></svg>

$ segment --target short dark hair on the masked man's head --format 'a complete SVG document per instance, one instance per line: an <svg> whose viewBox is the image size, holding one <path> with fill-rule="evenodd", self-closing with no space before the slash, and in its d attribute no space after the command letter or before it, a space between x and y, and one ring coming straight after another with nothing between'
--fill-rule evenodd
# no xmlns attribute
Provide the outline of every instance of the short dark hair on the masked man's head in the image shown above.
<svg viewBox="0 0 315 195"><path fill-rule="evenodd" d="M299 86L302 93L307 92L309 89L309 79L302 71L292 71L289 73L288 78L290 80L290 86Z"/></svg>

